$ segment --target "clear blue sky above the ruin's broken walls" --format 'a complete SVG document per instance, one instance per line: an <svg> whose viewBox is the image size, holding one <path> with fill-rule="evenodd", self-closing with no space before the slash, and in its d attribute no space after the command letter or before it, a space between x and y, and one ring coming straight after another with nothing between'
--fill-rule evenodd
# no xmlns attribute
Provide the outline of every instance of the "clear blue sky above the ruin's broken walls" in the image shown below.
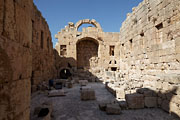
<svg viewBox="0 0 180 120"><path fill-rule="evenodd" d="M142 0L34 0L49 24L53 45L54 35L68 22L95 19L104 32L119 32L126 14Z"/></svg>

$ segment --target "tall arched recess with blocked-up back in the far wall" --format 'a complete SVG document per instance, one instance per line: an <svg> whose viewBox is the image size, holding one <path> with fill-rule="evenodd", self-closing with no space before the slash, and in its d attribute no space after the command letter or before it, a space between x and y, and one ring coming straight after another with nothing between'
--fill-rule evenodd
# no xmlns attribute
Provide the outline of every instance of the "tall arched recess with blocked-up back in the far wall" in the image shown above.
<svg viewBox="0 0 180 120"><path fill-rule="evenodd" d="M98 64L98 42L92 38L84 38L77 42L77 68L91 69Z"/></svg>

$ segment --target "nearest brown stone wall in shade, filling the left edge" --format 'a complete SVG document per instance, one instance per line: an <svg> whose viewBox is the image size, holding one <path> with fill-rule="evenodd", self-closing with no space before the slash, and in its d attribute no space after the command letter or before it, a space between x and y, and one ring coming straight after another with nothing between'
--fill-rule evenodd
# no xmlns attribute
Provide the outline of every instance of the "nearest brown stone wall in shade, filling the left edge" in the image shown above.
<svg viewBox="0 0 180 120"><path fill-rule="evenodd" d="M0 3L0 119L27 120L33 2L0 0Z"/></svg>

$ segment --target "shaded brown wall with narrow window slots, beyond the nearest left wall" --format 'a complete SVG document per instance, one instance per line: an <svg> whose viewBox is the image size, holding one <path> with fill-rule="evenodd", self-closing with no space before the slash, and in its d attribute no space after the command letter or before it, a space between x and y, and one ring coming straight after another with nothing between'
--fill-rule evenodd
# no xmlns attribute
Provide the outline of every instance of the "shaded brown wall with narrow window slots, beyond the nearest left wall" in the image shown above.
<svg viewBox="0 0 180 120"><path fill-rule="evenodd" d="M51 33L45 19L34 6L32 15L32 85L33 89L42 81L56 76Z"/></svg>

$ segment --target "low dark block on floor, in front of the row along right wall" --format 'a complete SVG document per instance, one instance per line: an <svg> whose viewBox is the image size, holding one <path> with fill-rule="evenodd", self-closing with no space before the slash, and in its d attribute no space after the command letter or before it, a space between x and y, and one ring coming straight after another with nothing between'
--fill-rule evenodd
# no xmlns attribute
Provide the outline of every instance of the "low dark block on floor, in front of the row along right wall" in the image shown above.
<svg viewBox="0 0 180 120"><path fill-rule="evenodd" d="M121 114L121 107L119 104L108 104L106 107L106 113L110 115L119 115Z"/></svg>

